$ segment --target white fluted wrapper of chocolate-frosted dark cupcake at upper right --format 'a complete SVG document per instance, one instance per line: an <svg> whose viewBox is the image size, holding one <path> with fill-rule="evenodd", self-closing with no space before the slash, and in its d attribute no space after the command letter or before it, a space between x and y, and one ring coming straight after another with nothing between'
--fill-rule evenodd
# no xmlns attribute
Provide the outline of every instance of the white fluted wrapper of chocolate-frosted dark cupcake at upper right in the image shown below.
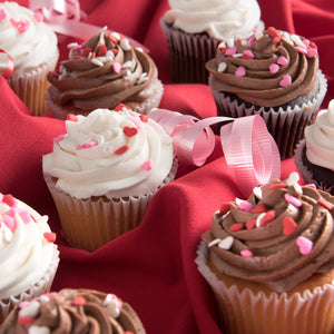
<svg viewBox="0 0 334 334"><path fill-rule="evenodd" d="M228 95L213 87L212 80L213 76L209 77L209 86L216 102L217 114L233 118L259 115L274 137L282 159L294 155L297 144L304 138L305 127L313 122L327 90L327 81L320 70L320 91L313 100L304 102L302 106L296 105L293 108L274 110L274 108L247 107L246 104L237 99L232 101Z"/></svg>

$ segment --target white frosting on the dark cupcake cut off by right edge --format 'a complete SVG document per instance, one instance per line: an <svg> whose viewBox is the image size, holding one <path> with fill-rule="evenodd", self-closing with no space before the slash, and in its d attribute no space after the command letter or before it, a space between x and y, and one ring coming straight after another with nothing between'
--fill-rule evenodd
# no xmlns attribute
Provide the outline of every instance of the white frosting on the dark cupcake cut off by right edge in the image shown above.
<svg viewBox="0 0 334 334"><path fill-rule="evenodd" d="M328 109L318 112L305 129L306 156L310 163L334 170L334 99Z"/></svg>

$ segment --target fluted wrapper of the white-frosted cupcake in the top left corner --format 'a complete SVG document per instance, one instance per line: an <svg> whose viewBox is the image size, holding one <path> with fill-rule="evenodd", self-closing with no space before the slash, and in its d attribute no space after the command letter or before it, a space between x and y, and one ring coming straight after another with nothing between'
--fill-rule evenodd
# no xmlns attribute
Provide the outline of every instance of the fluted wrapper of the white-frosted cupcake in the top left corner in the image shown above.
<svg viewBox="0 0 334 334"><path fill-rule="evenodd" d="M13 72L12 76L7 79L11 89L35 116L41 116L48 110L45 95L50 82L47 76L49 71L56 68L58 57L59 53L31 71L27 71L23 75Z"/></svg>

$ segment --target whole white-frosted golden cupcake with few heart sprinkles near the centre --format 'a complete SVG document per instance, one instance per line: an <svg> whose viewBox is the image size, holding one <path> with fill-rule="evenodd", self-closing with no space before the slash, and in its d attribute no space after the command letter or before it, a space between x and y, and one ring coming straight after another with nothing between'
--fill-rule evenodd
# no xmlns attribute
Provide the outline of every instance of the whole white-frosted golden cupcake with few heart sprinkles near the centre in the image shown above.
<svg viewBox="0 0 334 334"><path fill-rule="evenodd" d="M173 143L126 108L72 116L66 130L43 156L43 175L68 243L95 250L138 226L154 194L174 179Z"/></svg>

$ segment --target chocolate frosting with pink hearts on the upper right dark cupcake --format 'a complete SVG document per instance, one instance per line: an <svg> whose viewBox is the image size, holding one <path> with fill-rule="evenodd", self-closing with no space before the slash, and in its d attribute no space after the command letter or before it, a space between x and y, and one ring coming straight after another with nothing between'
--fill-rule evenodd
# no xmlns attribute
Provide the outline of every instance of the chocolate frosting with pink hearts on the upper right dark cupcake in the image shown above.
<svg viewBox="0 0 334 334"><path fill-rule="evenodd" d="M256 106L277 107L313 90L318 55L312 41L271 27L248 39L222 42L206 68L216 90Z"/></svg>

